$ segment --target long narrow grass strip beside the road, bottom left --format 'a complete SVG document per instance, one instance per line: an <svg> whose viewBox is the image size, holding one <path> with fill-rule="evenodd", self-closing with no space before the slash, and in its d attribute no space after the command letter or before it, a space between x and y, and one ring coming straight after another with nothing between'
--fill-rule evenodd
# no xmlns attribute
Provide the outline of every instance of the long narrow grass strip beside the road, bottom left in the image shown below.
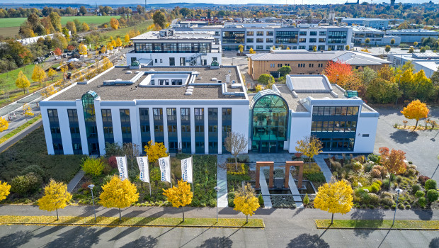
<svg viewBox="0 0 439 248"><path fill-rule="evenodd" d="M84 227L232 227L232 228L263 228L262 219L218 219L215 218L152 218L152 217L117 217L98 216L96 222L93 216L21 216L3 215L0 216L0 225L79 225Z"/></svg>

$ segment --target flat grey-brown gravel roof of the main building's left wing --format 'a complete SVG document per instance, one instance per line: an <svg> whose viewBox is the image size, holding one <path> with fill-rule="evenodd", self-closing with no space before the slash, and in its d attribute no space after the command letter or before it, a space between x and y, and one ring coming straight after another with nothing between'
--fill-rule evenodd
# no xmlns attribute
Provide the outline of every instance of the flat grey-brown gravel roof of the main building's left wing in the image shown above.
<svg viewBox="0 0 439 248"><path fill-rule="evenodd" d="M198 77L195 79L192 86L194 86L192 95L185 95L187 86L148 86L137 87L142 79L132 85L124 86L103 86L103 81L122 79L130 80L137 74L126 74L127 71L150 71L154 69L155 72L169 71L169 72L198 72ZM81 99L81 96L87 91L95 91L101 97L101 101L132 101L132 100L215 100L215 99L246 99L245 96L229 96L222 94L222 86L197 86L196 84L211 84L217 81L211 81L212 78L217 78L223 83L226 81L226 75L230 72L230 80L235 80L236 83L242 83L239 79L239 70L237 67L221 67L220 69L210 69L209 67L145 67L141 69L128 69L127 67L115 67L102 74L101 77L96 78L89 84L74 84L64 91L60 91L47 101L75 101ZM243 92L241 88L232 88L230 84L227 85L227 92Z"/></svg>

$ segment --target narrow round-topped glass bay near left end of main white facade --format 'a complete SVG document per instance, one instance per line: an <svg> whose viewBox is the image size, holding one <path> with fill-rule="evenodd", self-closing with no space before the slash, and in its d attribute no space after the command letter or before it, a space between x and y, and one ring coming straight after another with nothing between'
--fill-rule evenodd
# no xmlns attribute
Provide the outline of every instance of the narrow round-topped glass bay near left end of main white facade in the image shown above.
<svg viewBox="0 0 439 248"><path fill-rule="evenodd" d="M87 93L81 97L89 154L99 154L98 128L96 128L96 113L94 108L94 99L97 97L98 94L94 91L87 91Z"/></svg>

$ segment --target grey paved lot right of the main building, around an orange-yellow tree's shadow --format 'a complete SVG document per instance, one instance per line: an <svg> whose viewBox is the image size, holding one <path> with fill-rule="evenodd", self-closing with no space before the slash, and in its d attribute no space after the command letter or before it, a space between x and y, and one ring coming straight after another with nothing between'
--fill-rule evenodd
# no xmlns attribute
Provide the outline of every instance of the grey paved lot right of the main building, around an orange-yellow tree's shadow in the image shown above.
<svg viewBox="0 0 439 248"><path fill-rule="evenodd" d="M375 150L380 147L403 150L406 152L406 159L418 166L418 170L425 176L439 180L439 131L426 130L411 132L410 130L398 130L393 128L395 123L402 125L406 120L400 113L400 108L375 108L380 113L378 120L377 137ZM430 110L430 118L439 123L439 108L433 107ZM409 120L408 125L415 125L416 120ZM418 125L424 125L419 120Z"/></svg>

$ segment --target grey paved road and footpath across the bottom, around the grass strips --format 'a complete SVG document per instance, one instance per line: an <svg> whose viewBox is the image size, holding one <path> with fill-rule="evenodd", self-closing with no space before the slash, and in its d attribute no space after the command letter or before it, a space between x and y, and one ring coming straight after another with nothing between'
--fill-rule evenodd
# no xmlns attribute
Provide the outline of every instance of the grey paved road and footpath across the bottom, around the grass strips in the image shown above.
<svg viewBox="0 0 439 248"><path fill-rule="evenodd" d="M62 216L93 216L92 206L67 206ZM392 210L352 210L336 219L392 220ZM0 205L0 215L56 215L37 205ZM115 208L96 208L97 216L118 217ZM187 218L215 218L215 208L185 208ZM176 217L180 208L130 207L126 217ZM220 208L220 218L245 218ZM314 219L330 219L317 209L259 209L249 218L263 218L266 228L63 227L0 225L0 247L439 247L437 231L325 230ZM397 220L439 220L438 210L398 210Z"/></svg>

